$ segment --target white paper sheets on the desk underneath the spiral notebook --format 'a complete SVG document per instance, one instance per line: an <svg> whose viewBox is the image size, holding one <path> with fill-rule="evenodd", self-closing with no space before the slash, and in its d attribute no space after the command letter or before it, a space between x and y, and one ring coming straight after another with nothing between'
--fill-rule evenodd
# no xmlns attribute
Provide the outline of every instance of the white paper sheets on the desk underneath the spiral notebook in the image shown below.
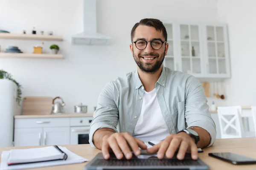
<svg viewBox="0 0 256 170"><path fill-rule="evenodd" d="M31 164L18 164L18 165L11 165L11 166L8 166L8 164L7 164L10 151L3 151L2 156L1 156L0 170L31 169L31 168L49 167L49 166L64 165L64 164L77 164L77 163L82 163L82 162L88 161L87 159L84 159L83 157L71 152L66 147L59 147L59 148L64 153L67 154L66 160L37 162L37 163L31 163Z"/></svg>

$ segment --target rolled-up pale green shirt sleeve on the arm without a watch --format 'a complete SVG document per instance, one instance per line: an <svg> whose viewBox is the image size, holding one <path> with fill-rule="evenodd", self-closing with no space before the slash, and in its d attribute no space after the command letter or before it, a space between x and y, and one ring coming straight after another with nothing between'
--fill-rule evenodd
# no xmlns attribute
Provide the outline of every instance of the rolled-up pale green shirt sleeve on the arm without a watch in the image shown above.
<svg viewBox="0 0 256 170"><path fill-rule="evenodd" d="M99 94L98 105L93 113L93 120L89 129L89 143L91 147L95 147L93 143L93 135L96 130L101 128L111 128L117 132L117 122L119 112L114 102L113 85L108 83Z"/></svg>

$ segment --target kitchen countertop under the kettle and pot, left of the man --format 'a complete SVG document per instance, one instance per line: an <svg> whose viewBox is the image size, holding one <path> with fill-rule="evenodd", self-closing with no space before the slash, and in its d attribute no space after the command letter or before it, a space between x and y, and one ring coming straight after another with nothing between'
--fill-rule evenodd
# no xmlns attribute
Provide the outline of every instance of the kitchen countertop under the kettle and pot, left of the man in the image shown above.
<svg viewBox="0 0 256 170"><path fill-rule="evenodd" d="M34 115L15 115L15 119L28 118L60 118L60 117L92 117L93 113L77 113L77 114L34 114Z"/></svg>

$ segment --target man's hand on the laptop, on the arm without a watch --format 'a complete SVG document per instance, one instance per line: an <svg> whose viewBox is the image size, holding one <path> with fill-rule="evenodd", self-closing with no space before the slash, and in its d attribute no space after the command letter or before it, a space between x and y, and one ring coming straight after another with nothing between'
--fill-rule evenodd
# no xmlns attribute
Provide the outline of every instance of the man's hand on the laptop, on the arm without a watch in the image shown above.
<svg viewBox="0 0 256 170"><path fill-rule="evenodd" d="M126 159L131 159L131 151L133 151L136 156L140 155L139 147L141 149L147 149L143 141L134 138L130 133L113 133L103 137L102 154L105 159L109 159L109 150L112 149L117 159L122 159L123 154Z"/></svg>

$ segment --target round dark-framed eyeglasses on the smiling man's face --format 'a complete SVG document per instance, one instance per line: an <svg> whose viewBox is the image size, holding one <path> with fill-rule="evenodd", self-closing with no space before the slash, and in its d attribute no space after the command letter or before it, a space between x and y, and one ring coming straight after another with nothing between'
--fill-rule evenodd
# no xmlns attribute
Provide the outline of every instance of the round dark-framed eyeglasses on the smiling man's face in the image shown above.
<svg viewBox="0 0 256 170"><path fill-rule="evenodd" d="M162 41L162 40L152 40L152 41L137 40L137 41L133 41L133 43L135 44L135 46L139 50L144 50L147 47L148 42L150 42L150 45L154 50L159 50L160 48L162 48L163 43L166 43L166 41Z"/></svg>

